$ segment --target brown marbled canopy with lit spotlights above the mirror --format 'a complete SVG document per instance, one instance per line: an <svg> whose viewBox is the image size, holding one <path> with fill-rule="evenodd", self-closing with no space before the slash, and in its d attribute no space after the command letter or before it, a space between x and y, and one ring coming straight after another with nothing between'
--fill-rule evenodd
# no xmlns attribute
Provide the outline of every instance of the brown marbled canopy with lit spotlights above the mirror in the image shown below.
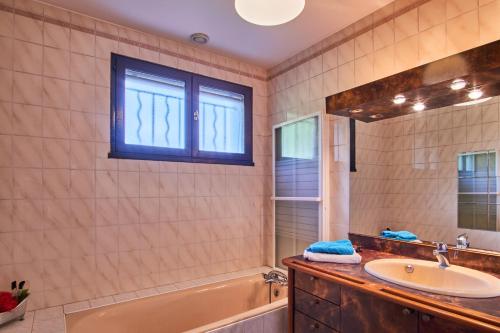
<svg viewBox="0 0 500 333"><path fill-rule="evenodd" d="M373 122L450 105L473 105L497 95L500 40L328 96L326 105L330 114ZM355 109L363 112L350 112Z"/></svg>

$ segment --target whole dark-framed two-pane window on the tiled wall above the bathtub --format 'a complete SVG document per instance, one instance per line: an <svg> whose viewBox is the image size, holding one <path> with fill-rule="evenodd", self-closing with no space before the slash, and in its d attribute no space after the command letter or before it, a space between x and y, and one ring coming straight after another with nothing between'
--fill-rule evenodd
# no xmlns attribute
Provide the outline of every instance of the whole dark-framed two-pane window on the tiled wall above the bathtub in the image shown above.
<svg viewBox="0 0 500 333"><path fill-rule="evenodd" d="M110 157L253 165L252 88L113 54Z"/></svg>

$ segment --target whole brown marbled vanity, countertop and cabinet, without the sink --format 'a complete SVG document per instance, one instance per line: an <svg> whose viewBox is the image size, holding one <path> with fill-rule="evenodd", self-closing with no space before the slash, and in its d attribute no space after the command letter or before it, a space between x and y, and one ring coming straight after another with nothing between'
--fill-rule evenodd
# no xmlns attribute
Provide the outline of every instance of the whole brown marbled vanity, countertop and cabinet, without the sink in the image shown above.
<svg viewBox="0 0 500 333"><path fill-rule="evenodd" d="M377 249L361 255L360 265L302 256L283 260L289 269L289 332L500 332L500 297L444 296L402 287L363 267L376 259L410 257Z"/></svg>

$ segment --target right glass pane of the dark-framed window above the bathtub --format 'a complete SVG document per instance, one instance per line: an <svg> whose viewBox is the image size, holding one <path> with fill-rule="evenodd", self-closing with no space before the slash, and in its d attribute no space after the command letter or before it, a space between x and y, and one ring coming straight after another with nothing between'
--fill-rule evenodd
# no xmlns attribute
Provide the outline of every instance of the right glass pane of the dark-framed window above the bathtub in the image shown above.
<svg viewBox="0 0 500 333"><path fill-rule="evenodd" d="M245 104L243 95L200 86L199 149L245 152Z"/></svg>

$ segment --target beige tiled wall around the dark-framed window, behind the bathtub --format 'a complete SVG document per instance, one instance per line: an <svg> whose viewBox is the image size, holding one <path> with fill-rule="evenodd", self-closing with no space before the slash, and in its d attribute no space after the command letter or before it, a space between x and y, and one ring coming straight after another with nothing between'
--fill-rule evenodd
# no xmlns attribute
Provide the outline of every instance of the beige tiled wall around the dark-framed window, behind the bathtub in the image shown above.
<svg viewBox="0 0 500 333"><path fill-rule="evenodd" d="M262 264L263 69L21 0L0 50L0 290L43 308ZM108 159L111 52L252 86L255 167Z"/></svg>

